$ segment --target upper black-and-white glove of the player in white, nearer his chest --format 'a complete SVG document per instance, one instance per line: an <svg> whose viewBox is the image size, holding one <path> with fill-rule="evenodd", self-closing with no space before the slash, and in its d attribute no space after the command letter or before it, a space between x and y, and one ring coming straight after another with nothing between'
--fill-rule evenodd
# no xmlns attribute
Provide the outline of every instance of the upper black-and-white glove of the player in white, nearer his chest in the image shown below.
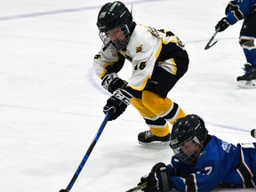
<svg viewBox="0 0 256 192"><path fill-rule="evenodd" d="M123 79L119 78L116 73L107 74L102 78L101 85L108 92L115 92L116 89L124 89L128 83Z"/></svg>

